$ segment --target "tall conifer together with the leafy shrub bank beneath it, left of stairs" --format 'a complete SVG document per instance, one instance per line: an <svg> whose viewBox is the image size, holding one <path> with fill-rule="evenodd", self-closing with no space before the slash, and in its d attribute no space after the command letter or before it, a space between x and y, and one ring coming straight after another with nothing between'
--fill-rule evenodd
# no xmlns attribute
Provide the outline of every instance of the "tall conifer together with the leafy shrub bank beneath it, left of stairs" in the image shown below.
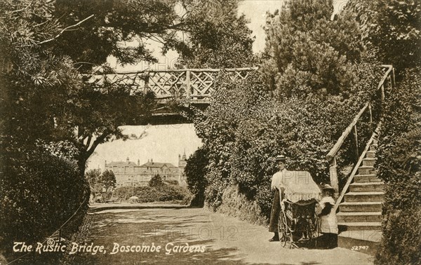
<svg viewBox="0 0 421 265"><path fill-rule="evenodd" d="M268 15L260 74L232 81L221 73L210 107L196 115L208 165L196 165L205 179L191 177L189 185L207 183L206 201L213 208L234 185L268 217L277 154L288 156L288 169L307 170L316 182L327 182L326 154L377 86L378 69L361 62L366 55L354 20L330 20L332 1L291 5L290 11ZM350 156L338 162L351 163Z"/></svg>

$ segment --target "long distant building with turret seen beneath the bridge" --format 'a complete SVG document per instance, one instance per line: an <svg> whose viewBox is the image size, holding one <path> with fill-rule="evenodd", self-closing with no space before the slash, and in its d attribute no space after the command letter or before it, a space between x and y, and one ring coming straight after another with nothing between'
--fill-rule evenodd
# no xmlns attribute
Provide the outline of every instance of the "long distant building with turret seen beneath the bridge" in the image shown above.
<svg viewBox="0 0 421 265"><path fill-rule="evenodd" d="M180 186L186 185L184 168L187 164L186 154L178 155L178 167L171 163L154 162L153 159L140 165L129 161L111 162L105 161L105 170L111 170L116 176L116 187L119 186L147 186L154 175L159 175L163 181L177 180Z"/></svg>

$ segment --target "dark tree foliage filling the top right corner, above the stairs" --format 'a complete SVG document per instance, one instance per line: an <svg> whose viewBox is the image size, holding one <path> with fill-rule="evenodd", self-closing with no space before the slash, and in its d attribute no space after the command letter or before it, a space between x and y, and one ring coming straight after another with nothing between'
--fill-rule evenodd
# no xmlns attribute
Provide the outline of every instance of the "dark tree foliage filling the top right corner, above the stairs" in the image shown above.
<svg viewBox="0 0 421 265"><path fill-rule="evenodd" d="M398 71L420 64L419 0L349 0L346 10L354 13L363 41L378 51L381 62L393 64Z"/></svg>

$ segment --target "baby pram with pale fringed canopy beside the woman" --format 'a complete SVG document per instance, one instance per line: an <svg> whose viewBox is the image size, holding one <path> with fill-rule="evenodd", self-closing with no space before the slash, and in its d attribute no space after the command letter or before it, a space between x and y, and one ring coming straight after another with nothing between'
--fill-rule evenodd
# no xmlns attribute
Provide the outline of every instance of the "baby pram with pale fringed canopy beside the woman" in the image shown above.
<svg viewBox="0 0 421 265"><path fill-rule="evenodd" d="M281 191L278 222L281 245L298 247L298 240L310 242L317 238L319 219L316 215L316 203L320 200L321 191L312 176L306 171L288 171L278 185Z"/></svg>

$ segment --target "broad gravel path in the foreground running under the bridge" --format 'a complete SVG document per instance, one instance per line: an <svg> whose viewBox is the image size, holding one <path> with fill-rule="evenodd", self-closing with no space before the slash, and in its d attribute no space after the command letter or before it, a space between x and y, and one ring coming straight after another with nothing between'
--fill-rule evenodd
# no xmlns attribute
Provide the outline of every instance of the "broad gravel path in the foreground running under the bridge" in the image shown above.
<svg viewBox="0 0 421 265"><path fill-rule="evenodd" d="M93 215L91 235L78 244L103 246L104 252L78 250L75 264L373 264L372 256L339 247L283 248L269 243L272 233L263 226L203 209L105 210Z"/></svg>

